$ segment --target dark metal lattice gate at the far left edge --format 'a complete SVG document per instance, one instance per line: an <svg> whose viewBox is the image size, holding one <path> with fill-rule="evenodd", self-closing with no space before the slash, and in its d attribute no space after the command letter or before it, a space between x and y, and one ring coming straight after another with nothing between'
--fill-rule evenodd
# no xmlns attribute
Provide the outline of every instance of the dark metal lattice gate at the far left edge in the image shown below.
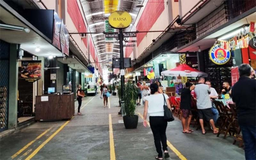
<svg viewBox="0 0 256 160"><path fill-rule="evenodd" d="M0 40L0 132L8 128L10 44Z"/></svg>

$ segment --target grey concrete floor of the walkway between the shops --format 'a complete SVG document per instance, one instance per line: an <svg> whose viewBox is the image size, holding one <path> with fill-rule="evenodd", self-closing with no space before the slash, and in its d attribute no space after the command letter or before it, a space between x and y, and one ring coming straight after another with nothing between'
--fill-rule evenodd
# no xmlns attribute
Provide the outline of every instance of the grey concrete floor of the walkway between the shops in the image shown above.
<svg viewBox="0 0 256 160"><path fill-rule="evenodd" d="M82 115L74 118L55 136L60 126L67 121L37 122L18 132L12 133L0 140L0 159L12 159L21 148L30 144L14 159L26 159L34 151L38 151L32 159L110 159L109 142L109 114L112 116L114 149L118 160L150 160L157 155L153 134L149 127L142 125L139 116L137 129L126 130L122 117L117 115L117 96L110 97L110 106L103 108L100 96L83 98ZM77 108L77 102L75 104ZM77 110L76 110L77 112ZM143 106L138 107L143 114ZM37 136L50 129L39 139ZM245 159L244 150L232 145L233 138L223 139L223 135L216 137L208 131L202 135L201 131L183 134L180 120L168 123L167 139L187 159ZM45 142L48 138L51 138ZM33 140L35 140L33 142ZM31 143L31 141L33 143ZM44 145L45 144L45 145ZM41 145L41 148L40 148ZM39 147L39 149L38 149ZM170 158L180 158L170 149Z"/></svg>

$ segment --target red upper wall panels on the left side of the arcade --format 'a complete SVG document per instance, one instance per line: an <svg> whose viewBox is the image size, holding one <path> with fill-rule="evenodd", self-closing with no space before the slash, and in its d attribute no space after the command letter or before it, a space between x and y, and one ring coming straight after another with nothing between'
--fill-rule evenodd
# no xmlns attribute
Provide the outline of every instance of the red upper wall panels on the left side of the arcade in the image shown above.
<svg viewBox="0 0 256 160"><path fill-rule="evenodd" d="M75 0L68 0L67 1L67 8L68 8L68 14L70 18L72 19L74 25L76 26L76 29L78 32L86 32L86 26L83 20L83 17L81 15L79 6ZM87 47L87 38L82 39L85 46Z"/></svg>

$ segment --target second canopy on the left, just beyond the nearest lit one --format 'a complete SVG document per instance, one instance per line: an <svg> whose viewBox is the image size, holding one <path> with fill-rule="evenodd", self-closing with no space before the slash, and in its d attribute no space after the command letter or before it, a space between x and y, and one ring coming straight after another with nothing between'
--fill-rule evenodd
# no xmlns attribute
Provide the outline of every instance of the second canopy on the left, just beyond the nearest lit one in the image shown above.
<svg viewBox="0 0 256 160"><path fill-rule="evenodd" d="M57 60L63 64L68 64L68 67L76 69L77 72L92 73L76 56L58 58Z"/></svg>

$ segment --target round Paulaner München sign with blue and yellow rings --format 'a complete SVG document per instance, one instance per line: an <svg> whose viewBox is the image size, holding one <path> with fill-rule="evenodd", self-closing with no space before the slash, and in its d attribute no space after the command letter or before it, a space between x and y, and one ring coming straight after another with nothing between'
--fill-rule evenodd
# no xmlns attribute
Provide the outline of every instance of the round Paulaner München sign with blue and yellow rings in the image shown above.
<svg viewBox="0 0 256 160"><path fill-rule="evenodd" d="M220 48L219 45L213 46L209 51L209 57L213 63L223 65L230 59L230 51Z"/></svg>

